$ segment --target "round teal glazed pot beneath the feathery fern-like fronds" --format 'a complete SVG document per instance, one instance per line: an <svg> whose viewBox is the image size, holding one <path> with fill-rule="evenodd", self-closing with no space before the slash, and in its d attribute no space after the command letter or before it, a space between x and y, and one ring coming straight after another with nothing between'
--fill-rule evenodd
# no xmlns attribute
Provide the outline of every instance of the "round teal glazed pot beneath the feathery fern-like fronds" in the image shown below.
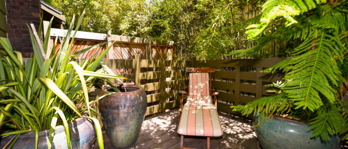
<svg viewBox="0 0 348 149"><path fill-rule="evenodd" d="M259 115L254 117L253 125L257 126ZM274 116L264 120L260 118L260 126L254 127L262 149L341 149L340 138L331 137L323 142L320 137L313 139L313 131L306 122L294 121Z"/></svg>

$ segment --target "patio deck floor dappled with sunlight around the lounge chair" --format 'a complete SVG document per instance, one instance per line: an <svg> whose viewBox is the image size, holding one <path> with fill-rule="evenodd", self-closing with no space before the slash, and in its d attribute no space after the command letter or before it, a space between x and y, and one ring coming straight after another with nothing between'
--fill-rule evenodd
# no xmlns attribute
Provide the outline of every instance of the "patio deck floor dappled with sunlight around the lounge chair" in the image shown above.
<svg viewBox="0 0 348 149"><path fill-rule="evenodd" d="M179 149L180 136L177 134L178 109L145 118L137 142L124 149ZM255 132L250 121L219 113L224 135L210 139L210 149L258 149ZM114 149L105 131L104 148ZM184 137L185 148L207 149L207 139ZM98 149L97 143L94 149Z"/></svg>

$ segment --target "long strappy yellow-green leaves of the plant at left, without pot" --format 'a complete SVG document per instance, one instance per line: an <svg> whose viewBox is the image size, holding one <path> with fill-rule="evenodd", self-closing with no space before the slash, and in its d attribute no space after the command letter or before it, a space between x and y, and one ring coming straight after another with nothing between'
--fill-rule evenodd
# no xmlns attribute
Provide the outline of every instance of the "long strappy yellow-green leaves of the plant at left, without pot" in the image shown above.
<svg viewBox="0 0 348 149"><path fill-rule="evenodd" d="M75 30L79 30L83 17L84 12L81 14ZM50 34L52 20L53 18L45 37ZM70 38L74 20L75 16L73 16L66 37L59 39L61 46L57 52L52 49L56 49L58 38L53 48L49 49L48 38L44 38L43 43L39 39L42 31L41 25L38 32L34 30L34 27L28 26L34 56L32 59L28 59L25 65L21 53L12 50L9 40L0 38L0 44L4 49L0 50L0 124L7 131L1 136L35 131L37 148L38 130L50 129L48 145L50 149L55 126L64 125L70 148L68 123L76 118L85 117L83 113L88 112L91 117L87 118L94 121L99 147L103 148L101 128L93 119L94 114L97 113L90 107L92 103L101 98L89 101L88 91L92 89L96 78L107 81L108 78L122 77L107 74L103 69L95 71L110 47L95 60L83 60L81 63L74 61L77 52L69 55L76 34L75 32L73 38ZM88 52L88 50L106 43L82 51Z"/></svg>

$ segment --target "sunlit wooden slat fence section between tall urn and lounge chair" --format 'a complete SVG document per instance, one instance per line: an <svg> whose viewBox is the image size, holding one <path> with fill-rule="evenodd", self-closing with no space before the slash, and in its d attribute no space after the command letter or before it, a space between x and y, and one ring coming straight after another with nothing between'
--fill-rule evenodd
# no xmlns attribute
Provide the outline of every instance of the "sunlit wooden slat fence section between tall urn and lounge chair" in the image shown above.
<svg viewBox="0 0 348 149"><path fill-rule="evenodd" d="M139 55L135 55L131 60L104 59L102 62L112 70L133 70L133 74L120 75L131 79L146 91L148 101L146 115L178 107L178 90L187 88L185 61L141 60ZM155 71L142 72L141 70Z"/></svg>

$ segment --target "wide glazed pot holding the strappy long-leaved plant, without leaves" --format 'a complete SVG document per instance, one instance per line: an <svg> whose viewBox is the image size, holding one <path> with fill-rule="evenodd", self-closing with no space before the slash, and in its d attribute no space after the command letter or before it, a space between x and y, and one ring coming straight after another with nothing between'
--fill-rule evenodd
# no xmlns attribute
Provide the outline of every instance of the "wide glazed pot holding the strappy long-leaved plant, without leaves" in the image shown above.
<svg viewBox="0 0 348 149"><path fill-rule="evenodd" d="M69 130L72 149L91 149L93 147L96 135L91 120L86 118L76 119L69 123ZM38 149L47 149L49 132L50 130L39 131ZM10 135L1 138L0 149L13 137L14 135ZM21 134L12 149L35 149L35 132ZM62 125L56 127L51 149L68 149L67 137Z"/></svg>

